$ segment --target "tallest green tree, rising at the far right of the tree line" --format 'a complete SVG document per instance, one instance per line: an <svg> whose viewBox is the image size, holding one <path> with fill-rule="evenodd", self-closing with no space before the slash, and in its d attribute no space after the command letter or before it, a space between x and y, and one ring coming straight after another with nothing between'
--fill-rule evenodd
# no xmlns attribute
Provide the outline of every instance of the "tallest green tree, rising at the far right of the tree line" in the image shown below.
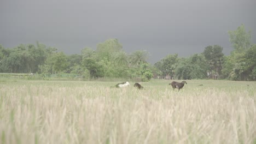
<svg viewBox="0 0 256 144"><path fill-rule="evenodd" d="M241 25L235 31L228 33L234 51L231 52L228 61L225 62L225 66L229 66L229 69L225 68L225 73L229 73L231 80L251 80L250 75L254 69L254 64L251 62L253 54L249 54L253 53L254 50L254 46L251 45L251 32L247 33L245 26Z"/></svg>

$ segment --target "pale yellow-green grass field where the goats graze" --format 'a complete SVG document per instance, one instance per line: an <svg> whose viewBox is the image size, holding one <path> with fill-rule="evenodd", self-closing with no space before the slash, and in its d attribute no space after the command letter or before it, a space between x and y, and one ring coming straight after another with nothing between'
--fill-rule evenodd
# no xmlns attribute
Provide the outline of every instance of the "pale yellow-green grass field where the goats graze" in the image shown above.
<svg viewBox="0 0 256 144"><path fill-rule="evenodd" d="M256 143L256 82L118 82L0 79L0 143Z"/></svg>

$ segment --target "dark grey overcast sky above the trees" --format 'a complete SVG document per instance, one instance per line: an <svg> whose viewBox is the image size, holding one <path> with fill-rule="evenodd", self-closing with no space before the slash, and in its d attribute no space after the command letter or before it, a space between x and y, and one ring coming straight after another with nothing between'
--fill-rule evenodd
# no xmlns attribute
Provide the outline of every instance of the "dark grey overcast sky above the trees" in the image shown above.
<svg viewBox="0 0 256 144"><path fill-rule="evenodd" d="M228 31L244 24L256 43L255 0L1 0L0 44L38 40L66 54L117 38L127 53L147 50L149 62L189 57L208 45L232 51Z"/></svg>

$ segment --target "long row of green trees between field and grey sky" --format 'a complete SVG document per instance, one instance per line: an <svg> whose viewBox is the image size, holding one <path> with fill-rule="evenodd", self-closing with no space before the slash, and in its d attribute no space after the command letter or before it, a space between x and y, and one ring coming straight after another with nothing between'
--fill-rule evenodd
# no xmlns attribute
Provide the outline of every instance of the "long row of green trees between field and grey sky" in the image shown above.
<svg viewBox="0 0 256 144"><path fill-rule="evenodd" d="M223 47L210 45L190 57L167 55L154 65L147 62L149 53L138 50L126 53L118 39L97 44L96 50L85 47L80 54L66 55L36 42L12 49L0 45L0 73L68 73L83 77L123 77L149 81L152 77L170 79L256 80L256 45L251 32L241 25L229 31L234 50L225 56Z"/></svg>

